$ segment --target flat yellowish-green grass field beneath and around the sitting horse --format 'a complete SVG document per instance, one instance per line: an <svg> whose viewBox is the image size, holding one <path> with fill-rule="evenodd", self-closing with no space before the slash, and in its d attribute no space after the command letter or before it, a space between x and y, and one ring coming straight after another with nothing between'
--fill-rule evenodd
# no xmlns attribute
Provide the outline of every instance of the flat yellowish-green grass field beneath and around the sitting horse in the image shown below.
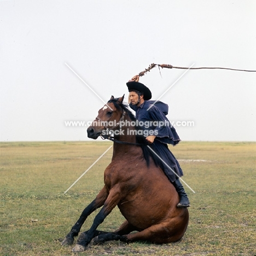
<svg viewBox="0 0 256 256"><path fill-rule="evenodd" d="M75 255L59 238L102 188L112 149L63 193L110 145L0 143L0 255ZM181 142L170 149L181 160L184 181L196 192L184 185L191 207L182 240L167 245L107 242L81 255L256 255L256 143ZM123 220L115 208L99 229L113 231Z"/></svg>

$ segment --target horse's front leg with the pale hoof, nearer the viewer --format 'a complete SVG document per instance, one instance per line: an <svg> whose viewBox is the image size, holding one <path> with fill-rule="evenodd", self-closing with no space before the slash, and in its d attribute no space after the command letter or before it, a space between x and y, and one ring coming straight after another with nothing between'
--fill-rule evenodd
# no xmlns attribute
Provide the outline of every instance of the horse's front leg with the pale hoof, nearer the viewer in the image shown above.
<svg viewBox="0 0 256 256"><path fill-rule="evenodd" d="M98 225L100 225L104 219L108 216L108 214L117 206L118 202L120 201L120 189L119 186L112 188L109 191L109 195L107 200L104 202L101 211L97 214L94 219L94 223L92 224L91 228L86 231L86 234L81 234L78 238L77 245L73 248L73 252L83 252L85 251L86 247L89 245L90 241L93 237L95 237L96 229Z"/></svg>

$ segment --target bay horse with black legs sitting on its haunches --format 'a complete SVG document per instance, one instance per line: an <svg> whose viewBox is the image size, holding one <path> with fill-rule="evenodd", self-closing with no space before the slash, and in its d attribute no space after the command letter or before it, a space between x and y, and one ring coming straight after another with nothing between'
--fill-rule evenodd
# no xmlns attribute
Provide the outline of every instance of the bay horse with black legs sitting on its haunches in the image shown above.
<svg viewBox="0 0 256 256"><path fill-rule="evenodd" d="M103 206L91 228L80 234L77 245L73 248L74 252L85 251L91 241L94 244L110 240L176 242L187 230L188 209L177 208L179 196L176 189L154 161L154 154L149 157L151 150L148 150L147 146L141 146L142 143L137 143L135 133L131 132L136 129L131 125L136 119L123 104L123 100L124 96L112 96L108 103L98 110L97 118L87 130L88 137L92 139L98 138L106 129L119 132L114 132L113 156L104 171L104 187L84 209L62 241L62 245L71 245L86 218ZM120 128L120 122L126 120L130 123L126 122L127 125ZM98 125L99 121L102 125ZM105 125L114 121L116 125L113 127ZM133 135L130 135L131 133ZM115 206L118 206L125 217L125 222L114 232L98 231L98 225Z"/></svg>

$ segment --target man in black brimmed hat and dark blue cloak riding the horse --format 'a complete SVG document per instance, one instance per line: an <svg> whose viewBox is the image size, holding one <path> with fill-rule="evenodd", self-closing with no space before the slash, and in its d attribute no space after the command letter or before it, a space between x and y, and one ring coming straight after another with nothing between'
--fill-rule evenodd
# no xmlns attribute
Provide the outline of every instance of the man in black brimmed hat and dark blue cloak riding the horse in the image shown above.
<svg viewBox="0 0 256 256"><path fill-rule="evenodd" d="M150 146L155 153L172 168L178 177L183 176L183 171L178 161L167 146L167 144L172 144L173 146L178 144L180 139L176 130L170 125L170 121L168 121L162 111L162 107L165 107L166 104L161 102L160 109L156 107L155 104L152 104L152 102L149 101L152 97L151 91L142 83L128 82L126 85L130 92L130 107L136 112L136 120L138 120L138 123L143 122L143 124L147 124L147 126L144 125L142 129L148 131L149 136L147 136L146 139L148 142L152 143ZM143 134L145 133L143 132ZM189 207L190 202L188 196L179 178L163 162L160 167L179 194L180 200L177 207Z"/></svg>

